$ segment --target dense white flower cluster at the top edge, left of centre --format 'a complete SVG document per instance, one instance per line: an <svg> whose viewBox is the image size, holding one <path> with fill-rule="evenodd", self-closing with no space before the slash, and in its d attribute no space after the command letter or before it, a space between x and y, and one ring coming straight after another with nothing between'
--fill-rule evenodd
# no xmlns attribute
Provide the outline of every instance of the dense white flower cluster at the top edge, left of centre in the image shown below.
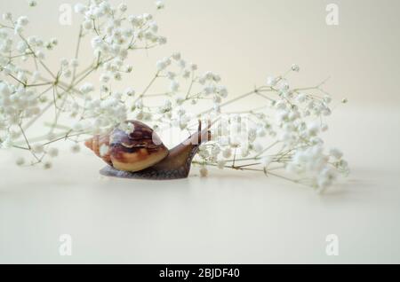
<svg viewBox="0 0 400 282"><path fill-rule="evenodd" d="M121 80L122 73L132 71L124 65L129 51L166 43L164 36L157 35L158 26L151 14L126 15L126 4L113 7L108 1L92 0L90 5L76 4L75 11L84 16L84 31L93 35L94 56L107 61L102 64L100 82Z"/></svg>

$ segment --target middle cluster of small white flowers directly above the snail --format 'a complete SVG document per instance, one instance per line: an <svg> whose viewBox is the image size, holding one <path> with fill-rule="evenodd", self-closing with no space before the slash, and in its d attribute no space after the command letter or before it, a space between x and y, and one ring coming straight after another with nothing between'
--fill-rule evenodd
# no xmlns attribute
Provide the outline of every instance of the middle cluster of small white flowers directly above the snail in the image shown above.
<svg viewBox="0 0 400 282"><path fill-rule="evenodd" d="M220 85L218 74L197 74L197 65L188 63L179 52L158 60L156 70L147 90L156 80L164 80L167 90L157 94L163 99L162 105L148 106L144 99L146 95L152 95L144 92L133 100L131 107L135 119L152 121L156 127L168 125L181 130L188 129L190 123L197 121L188 106L196 105L199 101L212 102L213 112L217 113L222 98L228 95L226 88Z"/></svg>

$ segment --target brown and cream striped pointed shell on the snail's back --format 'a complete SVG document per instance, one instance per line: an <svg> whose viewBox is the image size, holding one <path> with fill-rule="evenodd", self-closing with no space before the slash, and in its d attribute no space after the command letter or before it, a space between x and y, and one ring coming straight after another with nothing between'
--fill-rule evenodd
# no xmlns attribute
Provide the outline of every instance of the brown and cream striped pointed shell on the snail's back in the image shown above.
<svg viewBox="0 0 400 282"><path fill-rule="evenodd" d="M160 137L140 121L132 124L132 132L114 129L106 135L96 135L84 143L108 165L118 170L140 171L162 161L168 155Z"/></svg>

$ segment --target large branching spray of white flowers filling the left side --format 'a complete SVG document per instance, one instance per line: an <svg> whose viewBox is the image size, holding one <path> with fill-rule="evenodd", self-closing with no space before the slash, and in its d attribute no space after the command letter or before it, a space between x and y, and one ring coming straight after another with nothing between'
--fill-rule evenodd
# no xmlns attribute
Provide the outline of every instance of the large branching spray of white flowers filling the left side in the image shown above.
<svg viewBox="0 0 400 282"><path fill-rule="evenodd" d="M36 7L36 4L36 1L28 1L29 7ZM157 1L156 9L163 8L164 3ZM128 113L124 101L126 97L132 98L135 91L111 92L108 83L132 71L132 66L126 63L130 51L166 43L164 36L157 35L158 27L152 15L128 15L127 9L126 4L115 7L99 0L76 4L75 11L83 16L78 47L81 38L92 36L93 48L93 62L81 72L78 69L84 69L87 63L78 59L78 49L74 58L60 59L59 70L52 72L45 62L46 52L58 45L57 38L45 41L37 35L25 35L28 17L14 17L10 12L3 14L4 22L0 22L2 148L24 149L34 157L32 164L42 163L44 168L50 168L44 156L58 155L55 148L49 149L53 142L67 139L73 143L71 151L76 153L81 134L104 132L117 124L124 127ZM34 69L27 68L28 65L34 65ZM84 78L98 69L101 70L100 87L96 89L92 83L84 82ZM30 136L28 129L51 108L54 108L55 117L49 133L43 139ZM75 121L60 124L64 114ZM17 161L19 165L26 163L20 158Z"/></svg>

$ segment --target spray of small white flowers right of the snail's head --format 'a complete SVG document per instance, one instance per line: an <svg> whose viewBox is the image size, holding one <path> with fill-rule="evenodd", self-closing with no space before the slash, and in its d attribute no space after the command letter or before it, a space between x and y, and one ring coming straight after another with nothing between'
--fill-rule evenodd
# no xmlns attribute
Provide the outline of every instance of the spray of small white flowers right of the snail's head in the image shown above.
<svg viewBox="0 0 400 282"><path fill-rule="evenodd" d="M299 71L292 65L290 72ZM212 132L211 145L200 146L196 162L220 169L260 170L324 191L339 174L348 174L348 163L338 149L324 154L321 135L328 130L324 117L332 114L332 98L322 84L295 89L283 76L268 77L265 86L245 95L259 95L266 103L222 119ZM279 169L289 176L276 173Z"/></svg>

